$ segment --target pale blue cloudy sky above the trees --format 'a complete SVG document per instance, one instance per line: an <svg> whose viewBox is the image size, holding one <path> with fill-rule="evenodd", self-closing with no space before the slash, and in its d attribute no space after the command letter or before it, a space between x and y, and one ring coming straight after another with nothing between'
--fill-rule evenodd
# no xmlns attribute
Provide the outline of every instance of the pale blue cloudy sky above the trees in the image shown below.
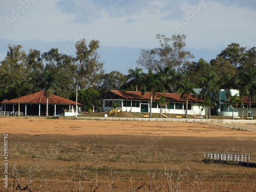
<svg viewBox="0 0 256 192"><path fill-rule="evenodd" d="M256 0L8 0L0 3L0 61L8 45L75 55L75 43L100 41L106 73L137 66L157 34L186 35L193 61L216 58L232 42L256 47Z"/></svg>

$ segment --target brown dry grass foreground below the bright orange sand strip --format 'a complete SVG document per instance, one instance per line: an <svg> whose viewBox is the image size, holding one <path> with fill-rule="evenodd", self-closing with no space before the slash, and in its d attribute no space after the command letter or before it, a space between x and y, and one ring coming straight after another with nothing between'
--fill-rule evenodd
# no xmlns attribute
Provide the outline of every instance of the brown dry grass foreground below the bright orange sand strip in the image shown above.
<svg viewBox="0 0 256 192"><path fill-rule="evenodd" d="M255 159L255 147L254 136L12 134L9 191L253 191L255 168L206 162L203 153Z"/></svg>

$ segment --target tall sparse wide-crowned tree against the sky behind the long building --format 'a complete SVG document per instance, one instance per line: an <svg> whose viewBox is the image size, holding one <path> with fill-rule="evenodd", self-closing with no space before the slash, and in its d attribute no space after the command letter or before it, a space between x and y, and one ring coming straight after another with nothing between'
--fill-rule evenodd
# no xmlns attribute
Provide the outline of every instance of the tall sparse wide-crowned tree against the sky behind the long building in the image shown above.
<svg viewBox="0 0 256 192"><path fill-rule="evenodd" d="M155 72L158 71L158 66L173 67L180 71L182 65L191 58L194 58L189 51L185 51L186 35L173 35L166 37L158 34L156 39L159 41L160 48L152 50L141 49L140 57L137 60L139 66L150 69Z"/></svg>

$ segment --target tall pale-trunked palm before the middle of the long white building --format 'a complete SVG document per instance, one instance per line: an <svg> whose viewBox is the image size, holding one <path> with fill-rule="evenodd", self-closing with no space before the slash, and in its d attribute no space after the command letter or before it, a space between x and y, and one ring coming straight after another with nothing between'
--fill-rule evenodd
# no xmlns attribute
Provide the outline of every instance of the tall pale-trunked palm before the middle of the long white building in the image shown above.
<svg viewBox="0 0 256 192"><path fill-rule="evenodd" d="M152 102L153 97L157 93L157 89L162 88L162 84L158 79L157 75L152 72L151 69L148 70L148 73L143 76L143 89L141 94L144 95L146 91L150 92L150 117L152 117Z"/></svg>

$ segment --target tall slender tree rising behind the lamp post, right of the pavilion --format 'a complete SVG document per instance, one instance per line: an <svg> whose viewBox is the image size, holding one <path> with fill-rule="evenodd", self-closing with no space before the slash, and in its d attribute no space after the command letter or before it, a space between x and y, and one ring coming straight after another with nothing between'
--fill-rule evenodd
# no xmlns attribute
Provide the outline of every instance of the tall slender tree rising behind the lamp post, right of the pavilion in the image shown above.
<svg viewBox="0 0 256 192"><path fill-rule="evenodd" d="M76 81L79 87L93 86L103 74L103 63L98 55L99 41L91 40L89 46L86 39L76 42Z"/></svg>

